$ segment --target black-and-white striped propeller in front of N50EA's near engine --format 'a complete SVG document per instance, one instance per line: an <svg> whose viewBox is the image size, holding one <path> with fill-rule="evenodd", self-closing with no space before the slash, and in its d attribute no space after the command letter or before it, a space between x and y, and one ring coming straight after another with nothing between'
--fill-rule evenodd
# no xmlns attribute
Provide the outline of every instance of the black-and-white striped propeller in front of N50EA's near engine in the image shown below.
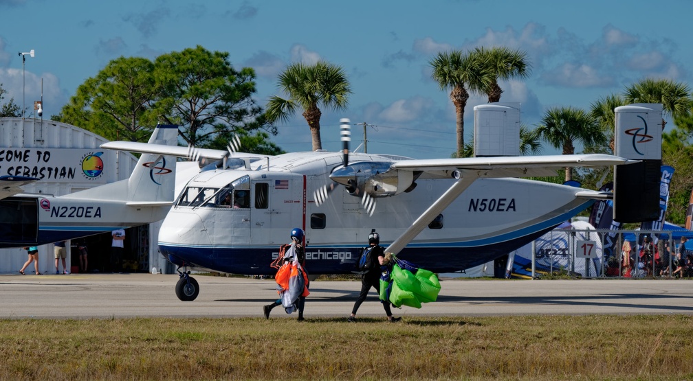
<svg viewBox="0 0 693 381"><path fill-rule="evenodd" d="M348 118L342 118L340 119L340 140L342 140L342 167L339 169L335 170L333 174L337 173L337 178L344 178L344 176L348 176L349 178L345 178L343 181L340 181L342 185L347 189L347 192L353 196L359 196L359 187L358 187L358 179L356 178L356 170L353 168L349 167L349 144L351 143L351 120ZM347 173L347 175L343 175L340 173ZM330 175L332 177L332 175ZM320 206L325 201L327 201L327 198L330 196L330 194L337 189L337 185L340 185L340 183L333 182L328 185L323 185L322 187L319 187L315 192L313 193L313 200L315 201L315 205ZM363 192L363 196L361 198L361 205L362 207L366 210L369 216L373 216L373 213L376 211L376 200L368 194L368 192Z"/></svg>

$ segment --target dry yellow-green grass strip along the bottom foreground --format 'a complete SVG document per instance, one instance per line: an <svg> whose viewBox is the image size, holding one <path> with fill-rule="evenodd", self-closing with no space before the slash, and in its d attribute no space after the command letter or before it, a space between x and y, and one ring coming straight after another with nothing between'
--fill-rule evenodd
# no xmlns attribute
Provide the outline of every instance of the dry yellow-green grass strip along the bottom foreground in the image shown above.
<svg viewBox="0 0 693 381"><path fill-rule="evenodd" d="M693 380L688 315L5 319L0 380Z"/></svg>

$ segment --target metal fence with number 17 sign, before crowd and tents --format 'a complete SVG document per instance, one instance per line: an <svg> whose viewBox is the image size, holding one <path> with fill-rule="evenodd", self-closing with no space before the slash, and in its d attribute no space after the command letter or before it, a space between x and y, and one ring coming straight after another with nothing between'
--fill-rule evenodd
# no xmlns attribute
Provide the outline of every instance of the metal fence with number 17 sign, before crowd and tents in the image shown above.
<svg viewBox="0 0 693 381"><path fill-rule="evenodd" d="M681 244L667 230L554 230L532 242L529 252L518 250L509 268L517 270L525 258L533 278L693 277L693 254L684 250L677 258Z"/></svg>

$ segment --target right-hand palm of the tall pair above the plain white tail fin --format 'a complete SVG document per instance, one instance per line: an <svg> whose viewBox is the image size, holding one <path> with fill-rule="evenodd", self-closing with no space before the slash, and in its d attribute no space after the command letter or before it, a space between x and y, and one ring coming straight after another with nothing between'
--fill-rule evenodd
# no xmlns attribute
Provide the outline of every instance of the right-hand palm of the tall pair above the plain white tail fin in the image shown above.
<svg viewBox="0 0 693 381"><path fill-rule="evenodd" d="M523 79L529 77L532 66L527 62L527 52L513 50L507 46L496 46L490 49L483 46L474 49L473 55L481 58L484 66L491 71L493 80L484 89L489 95L489 103L499 102L503 92L498 85L498 80Z"/></svg>

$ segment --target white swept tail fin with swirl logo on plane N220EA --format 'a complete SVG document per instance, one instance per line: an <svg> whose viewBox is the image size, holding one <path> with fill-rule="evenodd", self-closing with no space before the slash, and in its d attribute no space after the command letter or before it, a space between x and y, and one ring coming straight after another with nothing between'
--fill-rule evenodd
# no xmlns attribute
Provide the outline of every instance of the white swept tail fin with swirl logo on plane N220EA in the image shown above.
<svg viewBox="0 0 693 381"><path fill-rule="evenodd" d="M150 145L178 145L178 126L159 124L152 133ZM170 205L175 187L174 156L142 154L128 179L128 205Z"/></svg>

